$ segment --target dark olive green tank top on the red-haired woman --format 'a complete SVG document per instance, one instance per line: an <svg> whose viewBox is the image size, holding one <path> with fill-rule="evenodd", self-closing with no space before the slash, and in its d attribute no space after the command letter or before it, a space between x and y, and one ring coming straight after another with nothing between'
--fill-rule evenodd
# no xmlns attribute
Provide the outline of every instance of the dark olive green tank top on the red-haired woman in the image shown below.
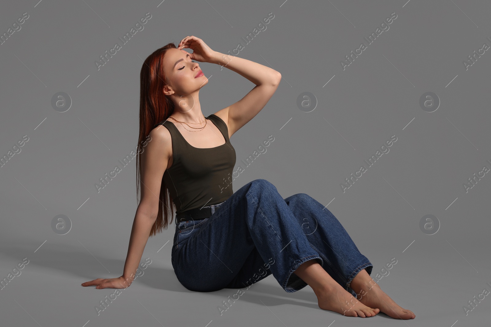
<svg viewBox="0 0 491 327"><path fill-rule="evenodd" d="M232 194L232 171L236 153L228 138L228 128L217 115L206 117L218 127L225 143L214 148L195 148L186 141L177 127L165 120L172 138L172 166L164 172L164 182L176 214L202 206L218 204Z"/></svg>

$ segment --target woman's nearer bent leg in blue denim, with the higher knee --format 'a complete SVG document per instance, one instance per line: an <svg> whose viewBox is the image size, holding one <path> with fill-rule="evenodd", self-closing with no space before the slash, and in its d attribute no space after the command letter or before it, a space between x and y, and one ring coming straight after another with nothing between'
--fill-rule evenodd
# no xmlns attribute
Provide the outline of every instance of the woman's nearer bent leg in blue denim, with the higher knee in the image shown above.
<svg viewBox="0 0 491 327"><path fill-rule="evenodd" d="M289 293L307 285L293 274L300 264L311 259L323 264L298 228L297 218L265 179L241 187L199 230L181 240L174 251L174 269L179 281L195 291L218 290L240 280L238 274L246 260L252 260L254 249L264 263L274 260L269 269Z"/></svg>

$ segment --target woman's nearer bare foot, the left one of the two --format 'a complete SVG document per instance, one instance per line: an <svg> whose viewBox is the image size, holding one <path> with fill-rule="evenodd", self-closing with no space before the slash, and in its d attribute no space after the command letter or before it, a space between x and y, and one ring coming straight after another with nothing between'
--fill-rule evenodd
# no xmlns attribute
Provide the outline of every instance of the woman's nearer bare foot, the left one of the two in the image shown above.
<svg viewBox="0 0 491 327"><path fill-rule="evenodd" d="M371 308L366 304L358 301L347 290L337 284L325 290L314 290L319 302L319 307L324 310L330 310L341 313L349 317L372 317L380 312L378 308Z"/></svg>

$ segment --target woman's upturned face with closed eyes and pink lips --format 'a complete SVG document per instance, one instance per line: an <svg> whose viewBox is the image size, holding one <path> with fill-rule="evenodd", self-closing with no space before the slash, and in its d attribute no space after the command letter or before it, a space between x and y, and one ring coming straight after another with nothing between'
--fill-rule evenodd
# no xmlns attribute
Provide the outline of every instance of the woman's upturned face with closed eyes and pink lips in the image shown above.
<svg viewBox="0 0 491 327"><path fill-rule="evenodd" d="M187 96L208 83L208 78L200 73L198 62L192 62L189 52L179 49L168 49L164 55L164 73L169 80L168 87L174 96ZM196 77L196 75L199 75ZM168 88L164 89L167 94ZM170 94L168 94L170 95Z"/></svg>

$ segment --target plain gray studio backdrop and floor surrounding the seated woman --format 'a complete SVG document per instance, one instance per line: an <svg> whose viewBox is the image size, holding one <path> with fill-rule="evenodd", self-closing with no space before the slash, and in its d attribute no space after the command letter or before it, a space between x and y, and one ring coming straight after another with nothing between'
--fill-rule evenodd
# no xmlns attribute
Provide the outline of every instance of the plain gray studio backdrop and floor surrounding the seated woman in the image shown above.
<svg viewBox="0 0 491 327"><path fill-rule="evenodd" d="M24 12L29 18L0 45L0 154L24 135L29 141L0 168L0 277L29 263L0 290L2 324L482 326L489 296L467 316L463 306L491 290L491 177L467 193L463 183L491 168L491 54L468 70L463 60L491 45L490 9L464 0L4 1L0 33ZM147 12L144 29L97 70L94 61ZM270 12L267 29L246 44L242 37ZM393 12L389 30L343 71L340 61ZM80 284L122 274L137 207L135 160L100 193L94 184L136 147L142 60L187 35L222 53L242 43L238 56L282 75L273 98L231 138L237 166L275 138L233 190L265 178L284 198L307 193L328 204L374 264L372 277L398 260L379 284L414 320L343 317L321 310L309 286L286 293L273 276L220 316L237 290L185 289L170 262L173 227L149 239L144 275L97 315L114 290ZM254 87L218 65L200 66L210 79L200 92L205 116ZM71 97L68 111L52 107L57 92ZM302 92L315 96L315 110L297 106ZM432 113L419 105L426 92L441 101ZM343 193L340 183L392 135L390 151ZM51 227L59 214L73 224L65 235ZM419 227L427 214L440 224L433 235Z"/></svg>

